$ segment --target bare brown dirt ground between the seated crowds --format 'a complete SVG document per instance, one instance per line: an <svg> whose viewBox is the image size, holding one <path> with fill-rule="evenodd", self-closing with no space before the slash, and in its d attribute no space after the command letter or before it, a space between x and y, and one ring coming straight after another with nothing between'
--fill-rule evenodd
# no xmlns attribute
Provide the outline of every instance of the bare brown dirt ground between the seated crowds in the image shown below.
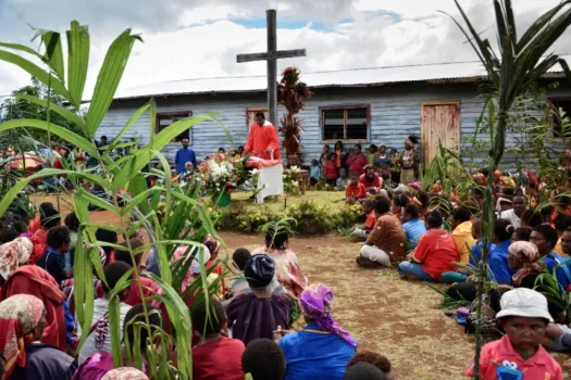
<svg viewBox="0 0 571 380"><path fill-rule="evenodd" d="M91 216L91 223L116 223L107 212ZM229 254L238 246L255 249L262 243L259 236L220 235ZM349 238L337 236L291 240L310 282L323 282L333 290L334 315L358 339L361 350L386 355L398 379L462 379L472 363L473 337L444 315L438 308L440 295L427 286L400 280L395 269L359 268L355 263L359 248ZM563 373L571 373L570 356L554 356Z"/></svg>

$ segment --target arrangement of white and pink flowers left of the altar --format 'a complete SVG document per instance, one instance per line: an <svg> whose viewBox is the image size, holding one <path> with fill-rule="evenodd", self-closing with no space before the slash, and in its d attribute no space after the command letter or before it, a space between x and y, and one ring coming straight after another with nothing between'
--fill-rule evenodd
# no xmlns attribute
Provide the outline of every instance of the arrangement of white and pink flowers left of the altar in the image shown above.
<svg viewBox="0 0 571 380"><path fill-rule="evenodd" d="M198 169L202 189L213 195L222 191L226 194L232 193L247 178L244 161L234 160L224 153L210 154L209 160L202 161Z"/></svg>

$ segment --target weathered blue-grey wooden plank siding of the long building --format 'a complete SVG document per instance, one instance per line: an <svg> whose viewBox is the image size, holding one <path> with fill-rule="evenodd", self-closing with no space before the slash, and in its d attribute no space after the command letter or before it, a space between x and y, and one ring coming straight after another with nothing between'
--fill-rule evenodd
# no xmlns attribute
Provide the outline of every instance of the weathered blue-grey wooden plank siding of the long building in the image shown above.
<svg viewBox="0 0 571 380"><path fill-rule="evenodd" d="M569 87L559 87L548 93L553 97L571 97ZM401 84L381 87L364 88L334 88L318 89L314 97L308 101L307 107L300 112L303 119L305 134L302 135L302 147L306 163L318 159L321 154L322 130L320 126L320 106L367 104L370 105L371 125L368 144L385 144L398 150L404 148L404 141L409 135L421 136L421 110L422 102L437 100L460 101L460 125L462 139L462 154L467 155L470 145L463 143L464 138L474 134L476 119L480 117L483 100L477 97L477 87L474 84ZM115 101L105 115L97 138L107 135L112 138L126 124L131 115L141 106L145 100ZM265 105L265 93L244 94L196 94L157 98L158 112L184 112L191 111L194 115L219 112L218 118L231 130L235 145L244 145L246 142L247 109L262 107ZM278 109L278 115L285 112ZM191 148L197 157L201 160L219 147L231 148L223 129L215 123L204 122L191 129ZM134 127L127 132L125 139L138 137L142 142L149 141L149 114L142 115ZM485 138L482 136L481 138ZM513 137L508 137L507 147L517 144ZM346 144L350 147L350 144ZM179 143L170 144L164 153L172 160ZM364 148L364 147L363 147ZM509 161L510 157L507 157ZM508 164L508 162L507 162Z"/></svg>

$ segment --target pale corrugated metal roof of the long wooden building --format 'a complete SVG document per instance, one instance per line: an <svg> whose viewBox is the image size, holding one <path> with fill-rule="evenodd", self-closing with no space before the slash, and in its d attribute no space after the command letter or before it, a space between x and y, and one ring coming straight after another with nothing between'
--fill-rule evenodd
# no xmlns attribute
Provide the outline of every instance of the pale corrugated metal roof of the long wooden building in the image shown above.
<svg viewBox="0 0 571 380"><path fill-rule="evenodd" d="M571 64L571 55L562 55ZM559 73L557 65L550 73ZM451 62L423 65L386 66L352 68L333 72L302 73L302 80L311 87L357 87L383 84L443 80L479 79L486 76L480 61ZM216 93L216 92L257 92L265 91L266 77L241 76L170 80L119 90L114 99L135 99L161 96Z"/></svg>

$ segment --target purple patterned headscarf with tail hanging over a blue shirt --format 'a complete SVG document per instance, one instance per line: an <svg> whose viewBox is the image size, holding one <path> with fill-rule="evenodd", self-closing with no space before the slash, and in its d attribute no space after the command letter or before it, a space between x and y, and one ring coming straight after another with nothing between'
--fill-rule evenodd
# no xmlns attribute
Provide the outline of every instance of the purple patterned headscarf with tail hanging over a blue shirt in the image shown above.
<svg viewBox="0 0 571 380"><path fill-rule="evenodd" d="M324 331L339 335L344 341L357 346L357 341L337 325L331 316L333 311L333 292L323 283L312 284L306 288L299 297L301 312L311 318Z"/></svg>

